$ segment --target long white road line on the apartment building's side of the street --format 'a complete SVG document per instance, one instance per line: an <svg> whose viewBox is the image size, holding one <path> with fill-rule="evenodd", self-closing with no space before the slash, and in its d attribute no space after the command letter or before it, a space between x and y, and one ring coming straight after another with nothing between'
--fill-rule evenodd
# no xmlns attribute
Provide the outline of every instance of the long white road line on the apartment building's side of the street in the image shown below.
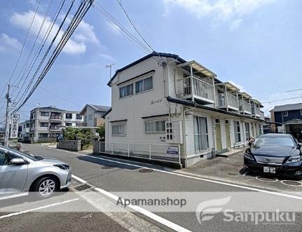
<svg viewBox="0 0 302 232"><path fill-rule="evenodd" d="M32 145L32 146L34 146L34 145ZM47 149L52 149L50 147L46 147L46 148ZM64 151L62 149L52 149L52 150ZM119 164L128 165L128 166L132 166L132 167L136 167L136 168L148 168L148 167L144 167L144 166L141 166L141 165L135 165L135 164L131 164L131 163L123 163L121 161L112 161L112 160L107 159L107 158L99 158L99 157L95 157L95 156L83 155L81 153L76 153L74 151L64 151L64 152L74 153L78 156L86 156L86 157L90 157L90 158L99 159L101 161L119 163ZM287 197L287 198L294 198L294 199L302 200L301 196L294 196L294 195L289 195L289 194L285 194L285 193L278 193L278 192L273 192L273 191L268 191L268 190L263 190L263 189L256 189L256 188L252 188L252 187L242 186L242 185L239 185L239 184L230 184L230 183L221 182L221 181L212 180L212 179L204 179L204 178L201 178L201 177L193 177L193 176L183 175L183 174L176 173L176 172L168 172L168 171L165 171L165 170L159 170L159 169L156 169L156 168L149 168L149 169L152 169L152 170L158 171L158 172L163 172L163 173L170 174L170 175L176 175L176 176L179 176L179 177L185 177L185 178L190 178L190 179L198 179L198 180L202 180L204 182L211 182L211 183L214 183L214 184L222 184L222 185L226 185L226 186L232 186L232 187L235 187L235 188L247 189L247 190L251 190L251 191L258 191L258 192L261 192L261 193L268 193L268 194L272 194L272 195L276 195L276 196L284 196L284 197Z"/></svg>

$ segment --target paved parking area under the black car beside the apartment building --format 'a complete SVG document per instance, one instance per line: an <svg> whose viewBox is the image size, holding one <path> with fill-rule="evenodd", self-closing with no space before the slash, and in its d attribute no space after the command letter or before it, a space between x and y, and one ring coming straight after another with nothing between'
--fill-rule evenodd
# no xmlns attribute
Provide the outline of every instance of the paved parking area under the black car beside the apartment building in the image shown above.
<svg viewBox="0 0 302 232"><path fill-rule="evenodd" d="M272 191L300 192L302 195L301 179L261 176L261 174L247 172L243 167L243 152L228 158L217 157L203 161L190 168L176 170L175 172Z"/></svg>

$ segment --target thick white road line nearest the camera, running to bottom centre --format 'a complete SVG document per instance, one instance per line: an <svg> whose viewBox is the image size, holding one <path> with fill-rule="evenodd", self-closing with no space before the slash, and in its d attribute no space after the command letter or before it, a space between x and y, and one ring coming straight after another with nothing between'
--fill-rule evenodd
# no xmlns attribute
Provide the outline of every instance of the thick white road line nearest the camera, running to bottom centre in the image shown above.
<svg viewBox="0 0 302 232"><path fill-rule="evenodd" d="M73 177L76 177L76 176L73 175ZM76 177L75 179L81 179L81 178ZM87 182L85 180L83 180L82 183L87 183ZM102 193L104 196L108 196L111 199L118 200L118 196L114 195L113 193L110 193L109 191L106 191L104 189L99 189L99 188L95 188L95 190L98 191L99 193ZM177 224L174 224L172 221L168 221L167 219L164 219L163 217L153 214L153 212L145 210L142 207L139 207L137 205L128 205L128 207L130 207L132 210L140 212L141 214L144 214L146 217L149 217L149 218L153 219L154 221L158 221L160 224L163 224L169 228L172 228L174 231L189 232L188 229L186 229L182 226L179 226Z"/></svg>

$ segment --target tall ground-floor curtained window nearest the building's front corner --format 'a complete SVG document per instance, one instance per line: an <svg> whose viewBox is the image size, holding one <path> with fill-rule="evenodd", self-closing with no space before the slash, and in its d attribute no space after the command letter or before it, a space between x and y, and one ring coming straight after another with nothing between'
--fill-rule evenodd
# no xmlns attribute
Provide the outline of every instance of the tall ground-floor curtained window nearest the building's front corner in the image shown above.
<svg viewBox="0 0 302 232"><path fill-rule="evenodd" d="M194 116L194 144L195 152L209 149L209 140L207 135L207 118Z"/></svg>

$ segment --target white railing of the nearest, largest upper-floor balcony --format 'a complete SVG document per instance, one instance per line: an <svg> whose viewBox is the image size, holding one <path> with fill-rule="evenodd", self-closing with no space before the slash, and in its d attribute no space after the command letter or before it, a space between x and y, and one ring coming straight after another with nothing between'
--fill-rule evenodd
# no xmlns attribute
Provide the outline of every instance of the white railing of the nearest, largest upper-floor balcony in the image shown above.
<svg viewBox="0 0 302 232"><path fill-rule="evenodd" d="M192 78L193 81L191 80ZM194 97L205 102L214 103L214 86L198 78L189 76L179 80L179 95L184 99Z"/></svg>

